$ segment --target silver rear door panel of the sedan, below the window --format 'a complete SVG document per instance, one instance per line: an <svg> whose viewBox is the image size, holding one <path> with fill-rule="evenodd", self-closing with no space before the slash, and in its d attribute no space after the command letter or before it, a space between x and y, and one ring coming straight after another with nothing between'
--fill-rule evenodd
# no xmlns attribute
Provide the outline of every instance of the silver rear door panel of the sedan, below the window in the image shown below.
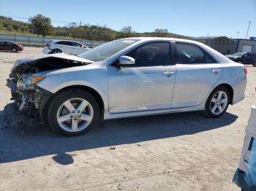
<svg viewBox="0 0 256 191"><path fill-rule="evenodd" d="M176 64L176 67L172 108L200 105L222 77L219 63Z"/></svg>

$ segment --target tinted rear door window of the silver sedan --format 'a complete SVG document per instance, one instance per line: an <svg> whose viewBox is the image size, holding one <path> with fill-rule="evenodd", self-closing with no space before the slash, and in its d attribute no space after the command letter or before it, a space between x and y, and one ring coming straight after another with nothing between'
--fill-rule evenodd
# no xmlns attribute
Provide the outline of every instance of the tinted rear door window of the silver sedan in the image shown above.
<svg viewBox="0 0 256 191"><path fill-rule="evenodd" d="M176 43L176 63L216 63L214 58L193 44Z"/></svg>

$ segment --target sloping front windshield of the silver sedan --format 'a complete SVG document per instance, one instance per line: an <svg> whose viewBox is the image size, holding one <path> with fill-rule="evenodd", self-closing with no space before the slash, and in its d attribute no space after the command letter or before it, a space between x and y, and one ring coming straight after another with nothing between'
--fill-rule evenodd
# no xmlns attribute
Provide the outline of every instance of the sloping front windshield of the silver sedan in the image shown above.
<svg viewBox="0 0 256 191"><path fill-rule="evenodd" d="M111 42L107 42L105 44L99 45L98 47L94 47L91 50L83 52L78 55L80 58L85 58L90 61L98 62L104 61L109 58L111 55L116 54L120 50L123 50L125 47L138 42L138 39L117 39Z"/></svg>

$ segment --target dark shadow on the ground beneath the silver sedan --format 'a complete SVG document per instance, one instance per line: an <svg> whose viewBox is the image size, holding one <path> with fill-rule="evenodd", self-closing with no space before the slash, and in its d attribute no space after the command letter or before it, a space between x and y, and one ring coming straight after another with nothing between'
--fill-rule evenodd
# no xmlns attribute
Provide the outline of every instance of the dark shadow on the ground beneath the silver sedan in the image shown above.
<svg viewBox="0 0 256 191"><path fill-rule="evenodd" d="M225 128L237 118L236 115L228 112L217 119L204 117L200 112L132 117L108 120L105 125L95 127L89 133L76 137L59 136L44 127L31 128L24 136L20 136L18 129L2 128L0 163L56 155L53 160L67 165L73 163L72 155L68 155L67 152L191 135ZM4 124L3 111L0 111L0 124Z"/></svg>

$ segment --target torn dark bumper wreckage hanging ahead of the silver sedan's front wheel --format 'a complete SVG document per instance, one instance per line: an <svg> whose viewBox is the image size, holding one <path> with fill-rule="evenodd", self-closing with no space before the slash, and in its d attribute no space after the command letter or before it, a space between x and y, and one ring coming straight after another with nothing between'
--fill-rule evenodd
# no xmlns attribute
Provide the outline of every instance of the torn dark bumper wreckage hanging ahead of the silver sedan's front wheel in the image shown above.
<svg viewBox="0 0 256 191"><path fill-rule="evenodd" d="M17 87L14 79L7 79L7 87L11 89L13 103L4 107L4 122L8 128L34 128L43 123L42 112L52 93L37 85Z"/></svg>

